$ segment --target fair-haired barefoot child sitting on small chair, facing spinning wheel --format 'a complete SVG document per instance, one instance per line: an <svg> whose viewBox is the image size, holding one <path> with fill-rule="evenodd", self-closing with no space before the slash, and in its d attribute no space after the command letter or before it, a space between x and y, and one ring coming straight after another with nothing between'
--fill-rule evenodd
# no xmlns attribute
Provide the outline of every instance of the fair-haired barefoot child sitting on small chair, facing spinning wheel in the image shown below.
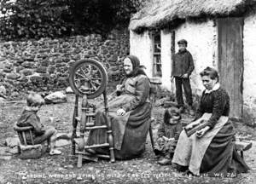
<svg viewBox="0 0 256 184"><path fill-rule="evenodd" d="M41 144L44 141L48 142L49 155L61 154L61 151L55 149L56 133L57 130L54 127L45 128L40 122L38 117L38 110L44 105L44 99L41 95L31 93L26 97L26 107L20 115L17 121L17 126L26 127L32 126L32 137L34 144ZM32 144L30 135L26 135L26 141L28 145Z"/></svg>

